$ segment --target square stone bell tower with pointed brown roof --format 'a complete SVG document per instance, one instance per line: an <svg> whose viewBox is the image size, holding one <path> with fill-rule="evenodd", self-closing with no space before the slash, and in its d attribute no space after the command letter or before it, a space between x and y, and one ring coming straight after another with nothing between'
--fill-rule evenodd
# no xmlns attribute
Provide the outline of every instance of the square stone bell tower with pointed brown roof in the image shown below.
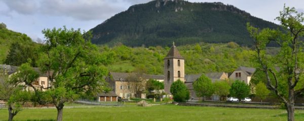
<svg viewBox="0 0 304 121"><path fill-rule="evenodd" d="M179 54L176 46L171 46L167 56L164 58L164 85L165 92L170 93L170 87L176 80L184 82L184 58Z"/></svg>

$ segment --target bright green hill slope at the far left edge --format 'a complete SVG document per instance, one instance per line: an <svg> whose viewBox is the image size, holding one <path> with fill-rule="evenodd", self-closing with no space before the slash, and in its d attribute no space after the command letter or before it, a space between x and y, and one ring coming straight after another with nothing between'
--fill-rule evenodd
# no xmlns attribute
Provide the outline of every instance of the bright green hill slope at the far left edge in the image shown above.
<svg viewBox="0 0 304 121"><path fill-rule="evenodd" d="M4 64L12 43L18 43L23 46L35 45L35 42L26 34L9 30L4 23L0 23L0 64Z"/></svg>

